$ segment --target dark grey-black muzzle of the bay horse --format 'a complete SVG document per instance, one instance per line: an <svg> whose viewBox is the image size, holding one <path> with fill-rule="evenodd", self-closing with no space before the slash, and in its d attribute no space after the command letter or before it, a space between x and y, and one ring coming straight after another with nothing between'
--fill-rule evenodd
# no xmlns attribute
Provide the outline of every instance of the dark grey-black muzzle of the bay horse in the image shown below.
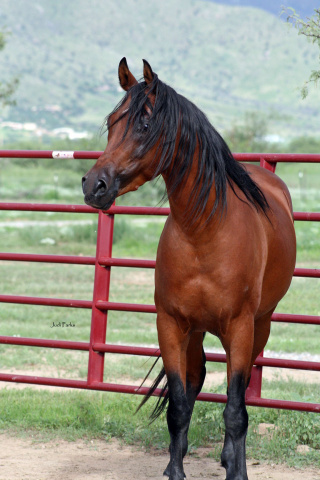
<svg viewBox="0 0 320 480"><path fill-rule="evenodd" d="M112 178L105 172L88 172L82 178L84 201L87 205L102 210L108 210L113 204L119 191L118 178Z"/></svg>

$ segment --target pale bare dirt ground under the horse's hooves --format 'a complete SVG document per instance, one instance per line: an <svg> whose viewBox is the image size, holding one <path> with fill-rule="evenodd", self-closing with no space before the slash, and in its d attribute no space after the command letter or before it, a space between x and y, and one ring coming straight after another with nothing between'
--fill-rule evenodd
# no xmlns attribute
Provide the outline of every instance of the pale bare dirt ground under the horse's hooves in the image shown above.
<svg viewBox="0 0 320 480"><path fill-rule="evenodd" d="M52 441L35 444L32 439L0 435L0 480L161 480L168 455L94 440L89 443ZM197 456L187 456L187 478L225 479L224 469L199 449ZM250 480L319 480L315 469L289 469L248 461Z"/></svg>

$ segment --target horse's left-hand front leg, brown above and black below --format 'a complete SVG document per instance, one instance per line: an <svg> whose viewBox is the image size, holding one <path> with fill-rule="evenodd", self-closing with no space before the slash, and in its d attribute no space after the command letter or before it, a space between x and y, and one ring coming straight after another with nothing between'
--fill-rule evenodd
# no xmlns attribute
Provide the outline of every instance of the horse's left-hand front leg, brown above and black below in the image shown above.
<svg viewBox="0 0 320 480"><path fill-rule="evenodd" d="M183 480L183 457L188 448L187 433L192 413L186 394L186 352L190 336L183 333L173 317L164 313L158 313L157 327L169 394L170 462L164 474L169 480Z"/></svg>

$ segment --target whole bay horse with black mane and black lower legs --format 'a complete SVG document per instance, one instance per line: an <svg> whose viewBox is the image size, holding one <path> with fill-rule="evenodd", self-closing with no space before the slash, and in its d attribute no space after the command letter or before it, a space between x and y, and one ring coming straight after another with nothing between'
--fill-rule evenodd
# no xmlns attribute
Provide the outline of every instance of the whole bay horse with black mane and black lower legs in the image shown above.
<svg viewBox="0 0 320 480"><path fill-rule="evenodd" d="M221 461L227 480L246 480L245 391L295 266L290 194L275 174L235 161L206 116L163 83L147 61L140 81L125 58L118 75L126 94L107 117L108 144L83 177L83 192L88 205L108 210L116 197L158 175L166 184L171 213L155 269L168 387L170 461L164 474L170 480L185 476L183 457L205 379L203 339L209 332L220 339L227 358ZM154 415L163 408L158 404Z"/></svg>

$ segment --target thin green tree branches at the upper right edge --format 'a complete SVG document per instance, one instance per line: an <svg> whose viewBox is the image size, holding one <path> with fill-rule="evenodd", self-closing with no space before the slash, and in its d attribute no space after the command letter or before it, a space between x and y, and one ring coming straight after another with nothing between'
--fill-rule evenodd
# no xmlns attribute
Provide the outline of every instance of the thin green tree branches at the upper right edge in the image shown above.
<svg viewBox="0 0 320 480"><path fill-rule="evenodd" d="M283 7L282 11L282 13L287 14L287 22L291 23L298 30L298 34L307 37L312 43L317 44L320 49L320 8L315 9L314 12L315 13L310 18L303 20L294 8ZM309 93L309 83L314 83L315 85L317 85L319 79L320 69L312 70L309 80L307 80L301 88L302 98L306 98Z"/></svg>

